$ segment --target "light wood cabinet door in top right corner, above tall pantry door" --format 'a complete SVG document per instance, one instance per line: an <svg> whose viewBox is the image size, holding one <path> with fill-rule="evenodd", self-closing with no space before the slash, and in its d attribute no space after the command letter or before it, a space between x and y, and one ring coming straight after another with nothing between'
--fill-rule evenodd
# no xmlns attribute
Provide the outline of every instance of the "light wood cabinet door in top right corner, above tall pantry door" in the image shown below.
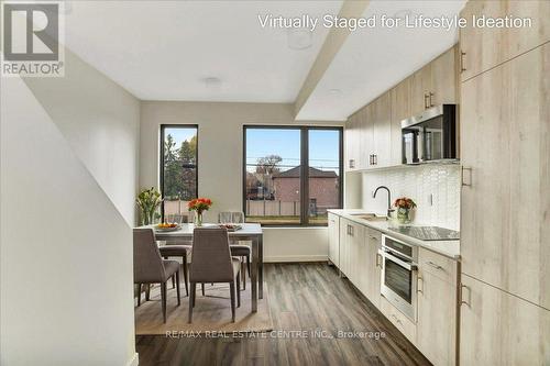
<svg viewBox="0 0 550 366"><path fill-rule="evenodd" d="M531 26L472 26L474 15L480 19L509 14L531 19ZM550 1L470 0L461 16L469 22L469 26L460 29L462 81L550 41Z"/></svg>

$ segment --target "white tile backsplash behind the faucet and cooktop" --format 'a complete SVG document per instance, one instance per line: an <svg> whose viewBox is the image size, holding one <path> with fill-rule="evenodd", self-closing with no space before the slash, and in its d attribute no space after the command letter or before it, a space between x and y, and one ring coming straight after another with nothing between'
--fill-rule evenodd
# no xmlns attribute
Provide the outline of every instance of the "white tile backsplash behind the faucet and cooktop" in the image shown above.
<svg viewBox="0 0 550 366"><path fill-rule="evenodd" d="M365 171L362 177L362 208L386 212L386 191L381 190L373 198L376 187L386 186L392 191L392 201L406 196L417 203L413 217L415 224L460 230L460 175L459 165L419 165Z"/></svg>

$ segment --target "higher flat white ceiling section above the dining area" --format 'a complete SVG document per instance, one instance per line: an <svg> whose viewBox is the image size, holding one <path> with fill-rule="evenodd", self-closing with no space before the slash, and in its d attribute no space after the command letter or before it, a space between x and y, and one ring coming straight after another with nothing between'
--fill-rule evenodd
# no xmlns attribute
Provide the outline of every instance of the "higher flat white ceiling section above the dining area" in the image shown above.
<svg viewBox="0 0 550 366"><path fill-rule="evenodd" d="M342 1L70 1L66 44L143 100L294 102L328 33L288 47L258 14L322 16ZM205 82L219 78L220 84Z"/></svg>

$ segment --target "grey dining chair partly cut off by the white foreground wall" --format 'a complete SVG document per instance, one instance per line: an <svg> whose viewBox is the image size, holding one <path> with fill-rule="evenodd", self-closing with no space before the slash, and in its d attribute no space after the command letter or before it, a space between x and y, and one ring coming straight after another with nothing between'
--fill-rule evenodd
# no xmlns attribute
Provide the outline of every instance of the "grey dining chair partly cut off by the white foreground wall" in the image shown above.
<svg viewBox="0 0 550 366"><path fill-rule="evenodd" d="M134 285L138 285L138 306L141 306L141 286L143 284L161 284L161 304L163 319L166 323L166 282L176 277L179 284L179 263L165 260L155 242L153 229L134 229ZM176 287L177 304L179 306L179 286Z"/></svg>

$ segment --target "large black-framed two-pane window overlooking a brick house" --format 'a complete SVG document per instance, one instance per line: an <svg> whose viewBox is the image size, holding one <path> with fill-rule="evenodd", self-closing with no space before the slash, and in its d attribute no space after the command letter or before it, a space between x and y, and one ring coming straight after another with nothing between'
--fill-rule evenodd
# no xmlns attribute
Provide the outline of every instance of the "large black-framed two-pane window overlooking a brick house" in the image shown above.
<svg viewBox="0 0 550 366"><path fill-rule="evenodd" d="M342 129L244 127L248 222L326 225L342 207Z"/></svg>

